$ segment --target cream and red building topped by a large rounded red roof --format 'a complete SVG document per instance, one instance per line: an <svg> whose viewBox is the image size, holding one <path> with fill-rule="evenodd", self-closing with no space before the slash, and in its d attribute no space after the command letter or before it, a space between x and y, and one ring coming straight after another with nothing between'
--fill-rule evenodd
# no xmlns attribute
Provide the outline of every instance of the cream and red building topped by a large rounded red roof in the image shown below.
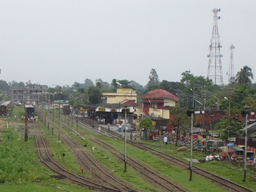
<svg viewBox="0 0 256 192"><path fill-rule="evenodd" d="M170 125L170 110L176 106L178 97L163 89L149 91L142 96L142 110L156 124L156 128L173 131Z"/></svg>

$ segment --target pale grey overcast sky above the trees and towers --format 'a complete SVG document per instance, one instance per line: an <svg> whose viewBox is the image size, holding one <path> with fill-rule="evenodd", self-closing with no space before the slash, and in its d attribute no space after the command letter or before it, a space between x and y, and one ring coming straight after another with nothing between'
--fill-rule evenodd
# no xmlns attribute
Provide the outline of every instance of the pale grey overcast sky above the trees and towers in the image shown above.
<svg viewBox="0 0 256 192"><path fill-rule="evenodd" d="M187 70L206 77L214 8L224 83L231 44L235 75L247 65L256 76L255 0L0 0L0 79L146 85L151 69L160 81Z"/></svg>

